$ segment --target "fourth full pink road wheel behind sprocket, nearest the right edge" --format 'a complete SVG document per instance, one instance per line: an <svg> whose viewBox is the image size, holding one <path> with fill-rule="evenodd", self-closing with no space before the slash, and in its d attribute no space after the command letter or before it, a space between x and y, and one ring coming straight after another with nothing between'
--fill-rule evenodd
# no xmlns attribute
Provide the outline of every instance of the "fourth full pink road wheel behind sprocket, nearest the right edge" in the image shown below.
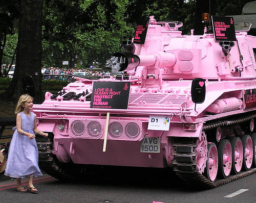
<svg viewBox="0 0 256 203"><path fill-rule="evenodd" d="M249 135L242 136L243 143L243 170L249 170L252 165L253 150L252 150L252 140Z"/></svg>

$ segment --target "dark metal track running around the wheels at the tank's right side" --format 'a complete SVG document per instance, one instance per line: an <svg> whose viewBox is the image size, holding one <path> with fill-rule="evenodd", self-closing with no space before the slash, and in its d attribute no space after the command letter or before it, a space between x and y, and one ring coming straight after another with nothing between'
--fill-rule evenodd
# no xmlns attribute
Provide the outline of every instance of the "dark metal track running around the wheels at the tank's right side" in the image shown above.
<svg viewBox="0 0 256 203"><path fill-rule="evenodd" d="M255 113L245 113L242 117L237 118L227 118L223 120L217 120L213 122L205 123L203 126L203 131L211 130L217 128L218 126L234 125L249 121L251 118L255 118ZM198 171L197 161L196 161L196 148L197 139L196 138L174 138L174 170L176 174L181 177L188 184L193 184L194 186L200 188L216 188L221 185L230 183L232 181L241 179L244 176L256 173L256 168L252 168L248 171L241 172L237 175L229 176L227 179L216 180L214 183L209 181L203 174Z"/></svg>

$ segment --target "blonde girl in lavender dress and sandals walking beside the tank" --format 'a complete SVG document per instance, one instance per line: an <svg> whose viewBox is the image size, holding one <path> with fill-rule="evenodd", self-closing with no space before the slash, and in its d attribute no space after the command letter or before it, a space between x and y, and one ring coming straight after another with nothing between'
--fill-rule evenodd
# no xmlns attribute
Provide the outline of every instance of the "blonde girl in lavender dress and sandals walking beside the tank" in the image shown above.
<svg viewBox="0 0 256 203"><path fill-rule="evenodd" d="M38 148L35 134L47 137L48 134L37 129L36 115L31 112L33 98L24 94L19 97L15 109L16 129L9 147L5 175L16 177L18 192L38 193L33 185L33 177L42 175L38 166ZM22 186L21 179L29 177L28 188Z"/></svg>

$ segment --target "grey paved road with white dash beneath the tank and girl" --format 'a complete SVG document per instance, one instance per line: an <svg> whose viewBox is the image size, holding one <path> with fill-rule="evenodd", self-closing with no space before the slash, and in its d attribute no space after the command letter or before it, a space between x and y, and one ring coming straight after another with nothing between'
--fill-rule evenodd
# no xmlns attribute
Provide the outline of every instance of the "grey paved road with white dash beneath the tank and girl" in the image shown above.
<svg viewBox="0 0 256 203"><path fill-rule="evenodd" d="M15 191L15 180L0 182L0 202L88 202L88 203L152 203L168 202L256 202L256 174L209 190L184 186L177 177L162 176L161 171L123 174L117 177L104 175L88 177L87 182L62 183L44 174L35 178L39 194ZM24 186L27 186L27 179ZM236 192L236 193L234 193Z"/></svg>

